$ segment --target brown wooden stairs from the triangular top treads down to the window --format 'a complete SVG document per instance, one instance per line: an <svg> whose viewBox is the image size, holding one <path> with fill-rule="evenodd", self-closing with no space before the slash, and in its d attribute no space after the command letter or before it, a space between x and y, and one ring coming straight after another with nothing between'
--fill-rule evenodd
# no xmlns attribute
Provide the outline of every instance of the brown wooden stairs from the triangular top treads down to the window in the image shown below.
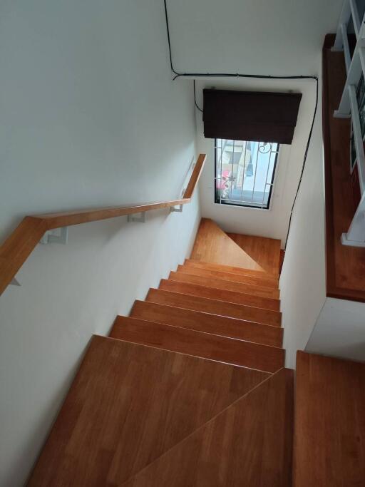
<svg viewBox="0 0 365 487"><path fill-rule="evenodd" d="M279 245L243 237L203 219L192 258L92 337L29 486L292 485ZM337 485L300 481L301 411L296 485Z"/></svg>

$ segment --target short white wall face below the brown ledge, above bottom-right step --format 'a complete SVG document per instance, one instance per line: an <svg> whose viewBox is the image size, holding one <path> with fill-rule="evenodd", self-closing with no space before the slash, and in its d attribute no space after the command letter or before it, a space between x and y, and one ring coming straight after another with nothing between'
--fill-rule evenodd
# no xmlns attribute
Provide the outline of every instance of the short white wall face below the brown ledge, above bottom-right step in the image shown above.
<svg viewBox="0 0 365 487"><path fill-rule="evenodd" d="M365 360L365 304L327 298L306 352Z"/></svg>

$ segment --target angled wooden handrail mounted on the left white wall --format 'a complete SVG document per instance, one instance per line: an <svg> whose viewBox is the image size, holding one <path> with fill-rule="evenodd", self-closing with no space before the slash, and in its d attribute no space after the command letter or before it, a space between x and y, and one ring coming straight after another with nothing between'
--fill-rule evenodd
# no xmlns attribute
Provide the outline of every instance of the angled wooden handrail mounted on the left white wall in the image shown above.
<svg viewBox="0 0 365 487"><path fill-rule="evenodd" d="M16 272L19 271L47 230L190 203L192 193L194 193L200 174L202 173L205 157L205 154L200 154L197 158L197 163L192 170L192 175L190 176L183 198L180 200L144 203L143 205L134 206L46 213L45 215L24 217L20 225L16 227L14 232L11 233L0 247L0 294L10 284Z"/></svg>

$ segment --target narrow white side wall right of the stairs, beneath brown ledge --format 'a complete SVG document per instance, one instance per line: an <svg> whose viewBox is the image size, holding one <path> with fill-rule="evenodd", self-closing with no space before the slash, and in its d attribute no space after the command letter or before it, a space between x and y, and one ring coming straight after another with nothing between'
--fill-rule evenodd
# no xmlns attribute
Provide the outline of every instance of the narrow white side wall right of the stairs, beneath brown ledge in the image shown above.
<svg viewBox="0 0 365 487"><path fill-rule="evenodd" d="M295 367L297 350L305 348L326 299L323 164L319 96L312 142L279 280L286 366L291 368Z"/></svg>

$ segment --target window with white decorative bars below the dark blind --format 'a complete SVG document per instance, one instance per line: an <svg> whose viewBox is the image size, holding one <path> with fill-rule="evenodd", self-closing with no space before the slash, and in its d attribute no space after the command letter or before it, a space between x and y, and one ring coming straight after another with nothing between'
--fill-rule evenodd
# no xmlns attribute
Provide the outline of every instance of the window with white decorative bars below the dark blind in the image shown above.
<svg viewBox="0 0 365 487"><path fill-rule="evenodd" d="M215 139L215 203L268 210L278 143Z"/></svg>

